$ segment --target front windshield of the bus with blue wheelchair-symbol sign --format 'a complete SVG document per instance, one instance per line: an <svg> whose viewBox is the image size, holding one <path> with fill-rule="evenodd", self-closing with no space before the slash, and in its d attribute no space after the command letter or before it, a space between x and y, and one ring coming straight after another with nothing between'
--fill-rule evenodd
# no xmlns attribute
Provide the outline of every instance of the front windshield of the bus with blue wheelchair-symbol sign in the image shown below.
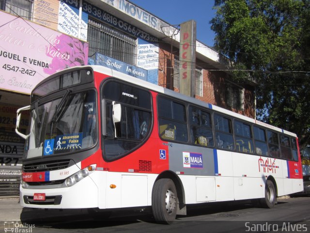
<svg viewBox="0 0 310 233"><path fill-rule="evenodd" d="M97 142L97 111L93 90L71 93L31 110L25 158L77 152Z"/></svg>

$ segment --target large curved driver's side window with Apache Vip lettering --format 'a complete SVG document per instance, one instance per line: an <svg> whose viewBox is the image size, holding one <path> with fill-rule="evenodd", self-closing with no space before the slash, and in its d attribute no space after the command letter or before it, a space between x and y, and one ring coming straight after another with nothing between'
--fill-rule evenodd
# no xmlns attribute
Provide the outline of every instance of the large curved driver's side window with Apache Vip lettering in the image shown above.
<svg viewBox="0 0 310 233"><path fill-rule="evenodd" d="M104 83L101 97L104 157L112 161L135 150L147 138L152 122L151 95L147 90L109 81ZM113 122L113 104L121 104L120 122Z"/></svg>

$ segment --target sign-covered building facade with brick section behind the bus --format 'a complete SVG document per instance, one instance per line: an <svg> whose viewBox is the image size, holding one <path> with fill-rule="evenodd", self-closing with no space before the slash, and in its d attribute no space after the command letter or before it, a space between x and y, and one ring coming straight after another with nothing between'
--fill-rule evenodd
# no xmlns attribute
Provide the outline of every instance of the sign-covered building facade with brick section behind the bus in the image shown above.
<svg viewBox="0 0 310 233"><path fill-rule="evenodd" d="M48 75L95 64L180 90L180 28L130 1L0 0L0 10L0 197L19 194L16 110ZM225 57L196 41L192 62L196 99L255 116L254 83L233 83Z"/></svg>

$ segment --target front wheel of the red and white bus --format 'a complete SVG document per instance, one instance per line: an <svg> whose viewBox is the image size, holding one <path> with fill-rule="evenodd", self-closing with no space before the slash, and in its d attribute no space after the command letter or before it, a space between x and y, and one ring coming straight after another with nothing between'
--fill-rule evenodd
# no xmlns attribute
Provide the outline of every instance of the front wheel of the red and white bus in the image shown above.
<svg viewBox="0 0 310 233"><path fill-rule="evenodd" d="M155 182L152 191L152 210L157 222L171 224L177 211L177 193L171 179Z"/></svg>

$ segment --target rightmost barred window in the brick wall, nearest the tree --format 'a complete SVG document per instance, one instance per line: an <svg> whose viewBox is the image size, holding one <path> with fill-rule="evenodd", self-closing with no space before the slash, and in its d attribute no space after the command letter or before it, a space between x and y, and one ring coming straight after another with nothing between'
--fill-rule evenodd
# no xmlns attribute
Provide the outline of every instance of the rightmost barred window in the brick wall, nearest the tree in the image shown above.
<svg viewBox="0 0 310 233"><path fill-rule="evenodd" d="M226 104L234 109L243 110L243 88L228 83L226 87Z"/></svg>

